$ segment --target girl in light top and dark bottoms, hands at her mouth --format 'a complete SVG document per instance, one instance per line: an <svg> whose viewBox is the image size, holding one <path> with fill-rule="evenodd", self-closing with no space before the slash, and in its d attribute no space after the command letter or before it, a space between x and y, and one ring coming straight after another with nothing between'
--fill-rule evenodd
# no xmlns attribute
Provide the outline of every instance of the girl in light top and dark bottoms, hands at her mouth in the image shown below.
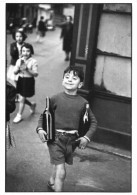
<svg viewBox="0 0 137 195"><path fill-rule="evenodd" d="M19 111L13 122L18 123L22 120L22 113L25 104L30 106L30 112L34 113L36 104L31 103L26 97L32 97L35 94L35 79L38 76L37 61L32 58L32 46L24 43L21 47L21 58L17 60L14 67L14 73L19 74L17 81L17 93L20 95Z"/></svg>

